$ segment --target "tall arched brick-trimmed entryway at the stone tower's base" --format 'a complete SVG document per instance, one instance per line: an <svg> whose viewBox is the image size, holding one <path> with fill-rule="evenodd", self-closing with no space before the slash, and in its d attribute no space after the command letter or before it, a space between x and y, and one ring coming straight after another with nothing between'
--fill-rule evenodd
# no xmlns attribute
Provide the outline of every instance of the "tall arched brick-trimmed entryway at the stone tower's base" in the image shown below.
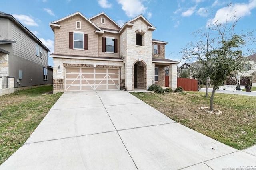
<svg viewBox="0 0 256 170"><path fill-rule="evenodd" d="M133 89L147 88L147 72L144 61L136 61L133 66Z"/></svg>

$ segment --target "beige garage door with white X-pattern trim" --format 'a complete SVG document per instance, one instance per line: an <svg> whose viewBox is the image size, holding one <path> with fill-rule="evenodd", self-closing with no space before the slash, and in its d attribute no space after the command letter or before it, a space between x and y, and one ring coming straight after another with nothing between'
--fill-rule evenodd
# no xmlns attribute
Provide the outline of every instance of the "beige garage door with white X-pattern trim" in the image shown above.
<svg viewBox="0 0 256 170"><path fill-rule="evenodd" d="M65 91L119 90L120 69L66 68Z"/></svg>

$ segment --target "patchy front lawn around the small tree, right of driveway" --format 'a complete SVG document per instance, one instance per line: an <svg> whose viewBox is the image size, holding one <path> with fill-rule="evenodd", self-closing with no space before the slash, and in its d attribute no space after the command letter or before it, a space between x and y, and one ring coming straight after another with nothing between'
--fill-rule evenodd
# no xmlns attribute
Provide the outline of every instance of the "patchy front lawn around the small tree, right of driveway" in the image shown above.
<svg viewBox="0 0 256 170"><path fill-rule="evenodd" d="M235 94L214 95L214 109L223 115L200 110L210 107L205 92L131 93L174 121L236 149L256 144L256 97ZM209 93L209 96L211 93Z"/></svg>

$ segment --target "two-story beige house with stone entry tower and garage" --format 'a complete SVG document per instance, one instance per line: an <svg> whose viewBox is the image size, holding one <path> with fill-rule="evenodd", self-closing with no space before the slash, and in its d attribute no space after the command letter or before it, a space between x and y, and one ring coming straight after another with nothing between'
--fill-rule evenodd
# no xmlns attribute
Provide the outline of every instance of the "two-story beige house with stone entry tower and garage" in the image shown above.
<svg viewBox="0 0 256 170"><path fill-rule="evenodd" d="M177 87L177 63L165 59L164 41L152 39L156 29L139 15L120 27L104 12L86 18L80 12L50 23L55 35L54 92Z"/></svg>

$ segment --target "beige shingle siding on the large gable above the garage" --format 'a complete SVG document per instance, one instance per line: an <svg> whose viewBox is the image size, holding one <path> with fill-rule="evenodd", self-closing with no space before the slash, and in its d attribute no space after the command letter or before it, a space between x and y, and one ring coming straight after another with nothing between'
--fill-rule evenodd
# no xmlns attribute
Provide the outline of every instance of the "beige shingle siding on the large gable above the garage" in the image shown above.
<svg viewBox="0 0 256 170"><path fill-rule="evenodd" d="M81 29L76 29L76 21L81 21ZM60 29L55 28L55 53L66 55L98 56L98 34L96 27L79 15L61 21ZM69 32L78 31L88 34L88 50L69 48Z"/></svg>

